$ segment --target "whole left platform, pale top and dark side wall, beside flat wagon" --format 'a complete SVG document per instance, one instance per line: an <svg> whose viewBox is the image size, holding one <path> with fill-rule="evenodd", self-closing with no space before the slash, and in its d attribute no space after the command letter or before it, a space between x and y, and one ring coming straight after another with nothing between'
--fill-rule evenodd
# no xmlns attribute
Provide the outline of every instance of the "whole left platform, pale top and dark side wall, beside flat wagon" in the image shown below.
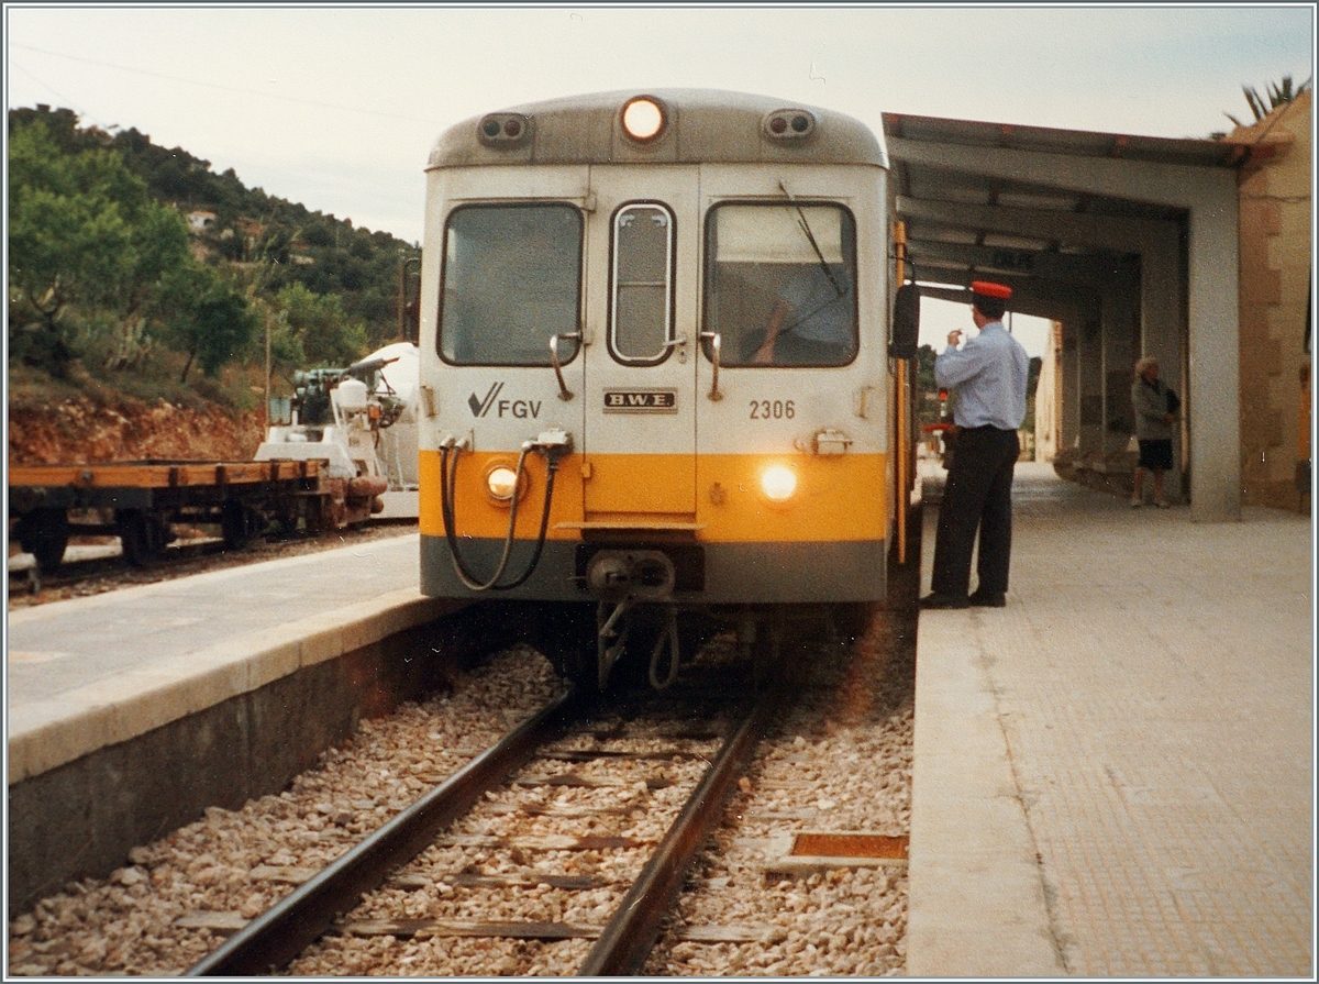
<svg viewBox="0 0 1319 984"><path fill-rule="evenodd" d="M443 678L464 633L421 595L418 549L402 533L9 612L11 915L277 791Z"/></svg>

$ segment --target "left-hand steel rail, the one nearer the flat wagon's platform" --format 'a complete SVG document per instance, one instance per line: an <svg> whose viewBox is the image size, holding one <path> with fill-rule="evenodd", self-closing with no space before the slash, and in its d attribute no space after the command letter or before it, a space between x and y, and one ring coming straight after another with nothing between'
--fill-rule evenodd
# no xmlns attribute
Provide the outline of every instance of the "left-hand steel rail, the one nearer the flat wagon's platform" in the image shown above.
<svg viewBox="0 0 1319 984"><path fill-rule="evenodd" d="M528 719L499 744L450 776L356 847L259 915L193 966L185 976L257 976L284 967L314 943L334 919L356 906L466 814L480 795L525 765L536 749L561 735L579 711L576 689Z"/></svg>

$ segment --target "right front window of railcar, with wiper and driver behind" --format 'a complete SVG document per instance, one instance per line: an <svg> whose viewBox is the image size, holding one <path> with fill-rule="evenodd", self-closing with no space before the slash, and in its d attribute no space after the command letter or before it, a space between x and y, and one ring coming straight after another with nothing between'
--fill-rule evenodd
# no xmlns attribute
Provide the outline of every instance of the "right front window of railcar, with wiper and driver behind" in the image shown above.
<svg viewBox="0 0 1319 984"><path fill-rule="evenodd" d="M820 203L715 206L706 216L704 293L704 330L720 335L723 365L847 365L859 339L851 212Z"/></svg>

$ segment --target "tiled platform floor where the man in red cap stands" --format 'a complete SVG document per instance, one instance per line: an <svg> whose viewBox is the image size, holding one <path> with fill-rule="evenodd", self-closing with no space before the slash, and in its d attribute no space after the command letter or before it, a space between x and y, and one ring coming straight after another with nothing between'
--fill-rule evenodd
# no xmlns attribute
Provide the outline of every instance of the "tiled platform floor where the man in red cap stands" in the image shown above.
<svg viewBox="0 0 1319 984"><path fill-rule="evenodd" d="M1310 517L1013 501L1008 607L919 617L907 973L1312 980Z"/></svg>

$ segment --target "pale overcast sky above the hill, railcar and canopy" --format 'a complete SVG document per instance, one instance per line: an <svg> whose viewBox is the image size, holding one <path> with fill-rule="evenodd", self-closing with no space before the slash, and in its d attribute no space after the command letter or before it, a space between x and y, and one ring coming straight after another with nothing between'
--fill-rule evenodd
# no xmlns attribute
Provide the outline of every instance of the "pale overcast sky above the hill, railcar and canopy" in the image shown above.
<svg viewBox="0 0 1319 984"><path fill-rule="evenodd" d="M876 132L893 111L1207 137L1231 129L1224 111L1250 119L1244 84L1301 83L1314 63L1312 4L7 4L5 21L11 108L136 127L249 187L408 241L421 239L435 137L537 99L731 88L839 109ZM931 331L942 348L946 328L922 338Z"/></svg>

